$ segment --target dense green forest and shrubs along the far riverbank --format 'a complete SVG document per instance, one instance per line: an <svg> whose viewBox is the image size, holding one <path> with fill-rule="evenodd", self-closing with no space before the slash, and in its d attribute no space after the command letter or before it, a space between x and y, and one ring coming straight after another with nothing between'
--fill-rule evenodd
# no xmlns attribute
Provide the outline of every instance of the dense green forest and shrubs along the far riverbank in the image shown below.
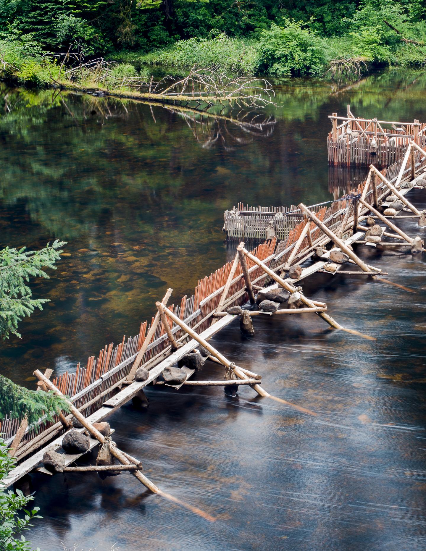
<svg viewBox="0 0 426 551"><path fill-rule="evenodd" d="M149 65L269 75L322 75L332 60L419 66L425 44L422 0L0 0L3 76L37 84L58 75L46 53L69 47L118 60L117 79Z"/></svg>

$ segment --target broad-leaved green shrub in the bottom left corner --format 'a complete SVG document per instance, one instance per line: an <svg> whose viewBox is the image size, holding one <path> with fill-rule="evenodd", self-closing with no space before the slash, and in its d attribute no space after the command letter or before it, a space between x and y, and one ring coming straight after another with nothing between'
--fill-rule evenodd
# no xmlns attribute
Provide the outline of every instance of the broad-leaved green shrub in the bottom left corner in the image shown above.
<svg viewBox="0 0 426 551"><path fill-rule="evenodd" d="M43 394L43 392L40 392ZM34 496L25 496L21 490L16 492L2 489L2 480L6 478L14 467L15 460L7 453L7 446L0 438L0 549L2 551L30 551L31 543L21 532L29 530L33 518L42 518L37 515L39 507L26 509L33 501ZM40 551L37 548L36 551Z"/></svg>

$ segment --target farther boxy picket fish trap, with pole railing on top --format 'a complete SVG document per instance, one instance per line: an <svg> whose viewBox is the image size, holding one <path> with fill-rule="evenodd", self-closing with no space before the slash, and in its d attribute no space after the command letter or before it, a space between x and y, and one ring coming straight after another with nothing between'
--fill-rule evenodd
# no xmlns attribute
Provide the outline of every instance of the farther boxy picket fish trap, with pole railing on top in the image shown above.
<svg viewBox="0 0 426 551"><path fill-rule="evenodd" d="M328 118L332 122L332 131L327 137L328 163L331 165L365 166L374 163L379 167L387 166L401 159L412 140L420 147L426 143L426 124L417 120L393 122L357 118L349 105L346 117L333 113Z"/></svg>

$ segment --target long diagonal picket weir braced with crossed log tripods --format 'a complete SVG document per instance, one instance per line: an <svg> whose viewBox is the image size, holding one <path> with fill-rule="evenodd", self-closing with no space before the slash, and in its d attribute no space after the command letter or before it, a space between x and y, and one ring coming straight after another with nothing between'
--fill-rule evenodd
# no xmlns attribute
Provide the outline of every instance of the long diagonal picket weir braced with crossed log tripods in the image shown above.
<svg viewBox="0 0 426 551"><path fill-rule="evenodd" d="M350 195L331 202L330 206L319 205L307 208L303 203L300 203L298 207L292 206L288 209L283 207L264 209L239 204L239 213L249 213L249 215L261 213L265 219L268 218L269 220L277 213L281 213L284 218L287 217L287 220L292 220L293 224L277 226L281 228L281 231L284 231L285 226L284 239L279 240L277 236L274 236L252 251L248 251L244 242L241 242L237 247L234 260L228 262L210 276L199 280L194 295L190 298L184 296L179 305L167 306L171 294L171 289L169 289L163 300L156 303L158 314L152 318L150 324L148 322L141 323L138 335L127 340L123 337L122 341L115 347L112 343L105 345L96 358L95 356L89 357L85 368L78 364L75 372L65 372L52 381L48 379L48 376L36 370L34 374L40 381L39 385L42 385L45 390L56 392L58 395L69 396L70 412L83 425L82 429L75 430L79 432L88 431L90 435L89 449L99 443L108 446L112 456L121 463L120 471L130 472L153 493L163 495L174 501L174 503L179 503L196 514L201 514L208 520L214 520L213 517L203 511L192 505L182 503L161 491L141 472L142 463L127 453L118 450L115 445L112 445L110 437L105 437L99 433L94 423L102 422L112 412L115 412L131 399L140 399L141 396L144 396L143 388L145 386L155 385L165 368L176 364L186 354L196 350L199 345L207 350L210 355L209 359L224 366L225 379L218 381L188 381L195 371L182 368L185 369L184 382L177 385L160 381L161 385L165 384L176 389L181 388L186 383L193 386L211 385L224 386L224 388L229 385L246 385L263 398L273 399L305 414L315 415L314 412L308 409L269 394L261 385L261 375L246 370L225 358L208 342L208 339L235 320L236 315L227 312L229 307L242 306L248 300L254 303L254 289L260 289L262 293L265 293L273 288L284 288L292 297L294 293L297 293L300 307L291 311L276 310L270 314L259 310L251 310L249 316L252 314L256 318L258 315L275 316L289 312L292 315L315 314L333 328L371 338L339 325L328 314L326 304L313 301L304 296L301 288L295 287L295 283L316 272L324 271L326 267L330 268L332 264L330 264L329 259L333 251L346 253L349 261L356 264L361 270L360 272L350 273L364 274L373 278L378 277L381 273L380 268L365 264L349 248L349 245L354 242L366 242L363 240L366 228L361 226L360 222L367 218L366 215L369 212L372 212L382 222L389 225L394 232L392 234L385 233L384 235L392 238L396 237L398 240L396 244L387 242L382 245L407 246L408 244L412 247L412 252L423 251L423 244L419 237L413 239L407 236L397 228L389 217L385 217L376 209L381 204L386 205L386 197L392 192L412 211L414 217L418 217L419 225L422 220L422 225L426 226L425 213L420 213L405 198L410 188L402 187L403 183L414 180L416 174L422 174L425 169L426 150L419 147L416 141L411 141L403 159L381 171L371 165L365 181L353 188ZM395 219L397 218L395 217ZM405 240L405 243L401 243L401 240ZM318 255L317 247L324 247L330 242L334 244L332 249L323 251L316 262L301 269L299 277L285 277L284 274L289 267L302 264L314 253ZM415 250L416 247L417 250ZM333 273L338 272L340 268L341 265L336 265ZM148 371L147 377L143 380L134 378L134 372L139 366L143 366ZM229 373L234 375L231 383L227 377ZM160 388L163 388L163 386L160 386ZM36 468L48 473L44 467L40 468L40 463L43 461L44 453L48 448L62 454L66 472L106 470L105 468L97 469L95 466L69 467L80 456L84 455L84 453L64 453L61 449L63 436L70 430L64 424L66 425L71 420L71 413L66 415L66 419L56 418L53 423L45 425L40 420L37 423L39 431L37 432L34 426L30 426L24 431L24 436L21 437L20 441L17 441L17 434L19 435L19 429L23 426L23 422L18 422L15 419L4 420L2 436L9 446L14 442L15 449L13 452L17 458L17 466L3 480L6 485L14 484L25 474L34 471ZM112 465L109 467L114 470Z"/></svg>

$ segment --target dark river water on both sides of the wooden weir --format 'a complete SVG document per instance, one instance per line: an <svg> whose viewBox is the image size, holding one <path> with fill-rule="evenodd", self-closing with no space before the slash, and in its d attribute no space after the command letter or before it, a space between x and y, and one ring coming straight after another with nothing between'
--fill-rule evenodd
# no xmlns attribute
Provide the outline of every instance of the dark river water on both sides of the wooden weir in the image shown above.
<svg viewBox="0 0 426 551"><path fill-rule="evenodd" d="M350 103L355 115L426 120L422 73L275 89L278 108L256 118L227 110L202 120L131 101L0 89L1 246L68 241L51 279L34 285L51 302L20 324L22 339L2 346L3 374L32 387L34 368L58 374L137 333L167 287L176 298L191 294L233 255L221 228L238 201L312 204L346 192L360 174L328 169L332 112ZM425 192L410 198L426 207ZM418 231L409 219L401 227ZM242 337L237 322L212 339L262 374L268 392L316 415L249 387L239 398L220 387L148 387L147 410L128 404L109 419L146 476L214 522L145 493L130 474L39 475L30 487L44 516L29 532L35 546L424 549L426 266L396 251L359 253L409 291L328 274L304 291L375 341L314 315L257 316L254 337ZM215 377L223 370L211 362L197 375Z"/></svg>

